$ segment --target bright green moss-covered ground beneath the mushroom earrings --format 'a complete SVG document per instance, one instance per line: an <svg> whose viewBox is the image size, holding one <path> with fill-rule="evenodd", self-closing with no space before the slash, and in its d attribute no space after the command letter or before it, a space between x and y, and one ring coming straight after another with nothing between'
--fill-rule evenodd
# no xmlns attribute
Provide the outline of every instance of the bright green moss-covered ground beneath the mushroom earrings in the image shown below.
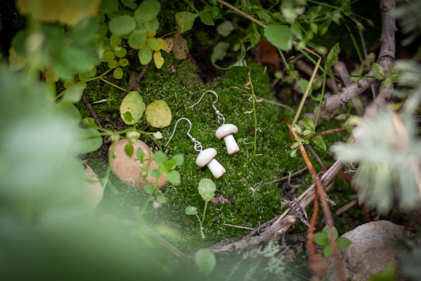
<svg viewBox="0 0 421 281"><path fill-rule="evenodd" d="M172 73L168 68L173 65L176 73ZM267 75L264 75L256 62L249 60L252 71L250 74L255 94L258 97L273 101L274 93L269 87ZM127 70L131 67L128 65ZM139 69L141 67L139 66ZM139 70L138 69L138 70ZM99 70L100 72L100 70ZM125 77L120 80L109 75L106 79L123 88L127 88L130 71L126 71ZM248 234L248 230L224 226L223 224L234 224L246 227L258 227L274 216L282 213L281 198L284 192L278 184L264 184L268 181L288 175L288 171L294 172L305 166L301 156L290 157L291 138L288 135L288 128L282 118L284 114L292 120L292 112L273 103L266 101L256 102L257 116L257 138L256 155L253 155L254 141L254 113L249 113L253 109L250 102L251 90L247 89L248 68L232 68L227 70L221 77L208 85L204 85L197 76L197 71L192 62L188 59L178 60L172 55L165 57L165 64L158 70L155 66L150 66L141 79L139 85L144 102L148 105L153 100L161 99L168 103L172 112L172 122L168 127L157 129L147 127L148 132L160 131L163 138L157 140L158 146L169 156L174 154L184 154L184 164L178 169L181 174L181 184L173 186L167 184L163 192L167 198L167 204L154 209L148 203L147 195L143 191L132 189L121 183L115 175L111 174L109 185L104 191L104 199L96 209L96 214L102 216L115 216L127 221L136 221L136 211L144 204L149 204L147 221L163 237L167 238L175 246L186 245L194 247L209 246L224 238L232 238ZM235 88L233 88L235 87ZM213 90L218 93L216 108L224 115L226 123L235 124L238 133L235 139L240 147L240 151L233 155L226 154L224 141L215 137L215 131L219 127L216 114L211 108L214 101L213 95L205 95L202 101L193 108L191 105L199 100L206 90ZM85 96L91 101L108 99L105 103L94 104L93 109L100 115L104 127L117 130L115 124L120 118L119 106L121 101L117 97L121 90L106 84L100 80L89 82ZM309 103L312 103L309 100ZM311 107L309 105L309 107ZM78 105L83 117L88 117L89 113L83 103ZM107 113L107 114L100 114ZM192 122L190 134L199 140L203 149L213 147L218 151L216 159L226 169L226 174L219 179L214 179L208 168L199 168L195 164L198 152L194 150L193 143L187 137L189 128L187 122L180 122L173 139L168 146L165 143L170 138L176 120L187 118ZM137 128L147 126L143 116ZM318 131L341 126L339 122L322 123ZM128 126L126 126L128 127ZM341 135L326 136L324 139L329 146L336 140L344 139L346 133ZM141 140L149 145L152 144L149 136L142 135ZM312 145L317 154L321 157L325 165L333 163L329 151L323 151L319 147ZM93 170L104 176L107 168L107 145L103 145L98 151L88 154L88 164ZM322 167L317 164L310 155L317 170ZM184 209L187 206L195 206L203 212L204 200L197 192L197 186L202 178L211 178L216 184L216 195L222 195L230 203L218 203L209 207L205 215L205 240L200 237L200 225L195 216L187 216ZM309 173L304 172L296 178L304 182L298 194L312 184ZM294 179L294 184L298 181ZM282 183L281 183L282 184ZM333 189L333 200L338 206L342 206L349 200L349 194L353 191L349 183L338 179L336 188ZM256 193L250 188L256 189ZM307 209L311 214L311 208ZM344 231L347 224L344 222ZM305 231L305 227L297 224L298 231Z"/></svg>

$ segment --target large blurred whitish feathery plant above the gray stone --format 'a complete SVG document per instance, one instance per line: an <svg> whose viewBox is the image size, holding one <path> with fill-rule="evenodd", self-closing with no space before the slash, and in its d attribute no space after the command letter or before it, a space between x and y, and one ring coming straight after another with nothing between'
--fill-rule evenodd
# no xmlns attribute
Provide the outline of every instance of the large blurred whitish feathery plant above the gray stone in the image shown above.
<svg viewBox="0 0 421 281"><path fill-rule="evenodd" d="M359 163L353 179L359 200L379 213L388 212L394 199L407 211L421 203L421 141L411 122L405 123L384 110L360 122L352 131L353 141L331 147L336 158Z"/></svg>

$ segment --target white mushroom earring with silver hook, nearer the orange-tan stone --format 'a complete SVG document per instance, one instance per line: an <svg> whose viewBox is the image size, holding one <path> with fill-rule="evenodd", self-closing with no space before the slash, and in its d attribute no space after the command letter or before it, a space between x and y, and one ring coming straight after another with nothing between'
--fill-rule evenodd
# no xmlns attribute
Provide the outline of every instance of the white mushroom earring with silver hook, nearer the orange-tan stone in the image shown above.
<svg viewBox="0 0 421 281"><path fill-rule="evenodd" d="M171 135L171 138L168 140L167 143L165 143L165 146L168 145L170 140L173 138L174 133L176 132L177 124L180 120L187 120L190 124L190 128L187 131L187 136L192 140L193 143L195 143L195 151L199 151L199 155L196 158L196 165L200 168L204 167L205 165L208 166L210 172L215 178L220 178L224 173L226 172L225 168L222 167L222 165L218 162L218 160L215 159L215 156L217 154L216 149L214 148L208 148L205 150L202 150L202 144L200 144L199 141L197 141L195 138L190 135L190 130L192 129L192 122L190 122L187 118L180 118L176 122L176 126L174 127L173 134Z"/></svg>

